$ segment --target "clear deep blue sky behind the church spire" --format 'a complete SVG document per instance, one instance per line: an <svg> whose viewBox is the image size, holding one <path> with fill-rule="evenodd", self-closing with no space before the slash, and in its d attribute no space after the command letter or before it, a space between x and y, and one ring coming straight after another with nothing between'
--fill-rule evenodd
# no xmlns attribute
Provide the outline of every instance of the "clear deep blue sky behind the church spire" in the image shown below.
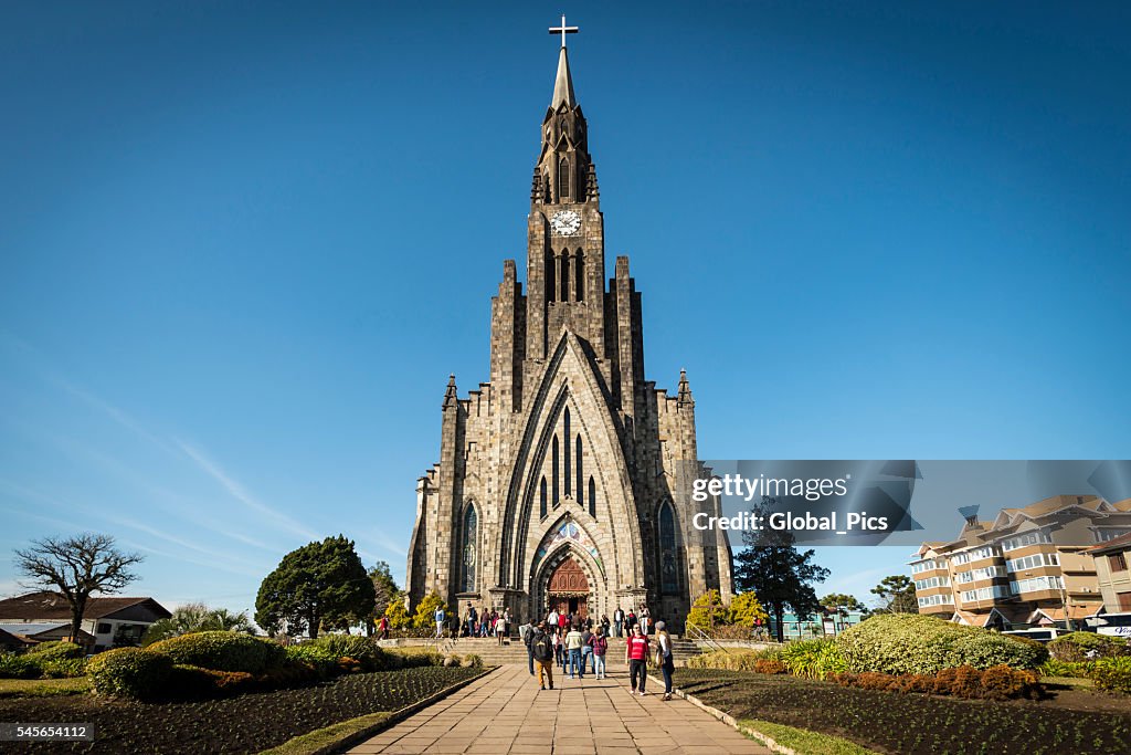
<svg viewBox="0 0 1131 755"><path fill-rule="evenodd" d="M612 5L566 9L606 248L703 457L1128 456L1125 6ZM0 593L80 530L169 604L338 532L403 577L560 9L0 11ZM906 556L823 551L821 592Z"/></svg>

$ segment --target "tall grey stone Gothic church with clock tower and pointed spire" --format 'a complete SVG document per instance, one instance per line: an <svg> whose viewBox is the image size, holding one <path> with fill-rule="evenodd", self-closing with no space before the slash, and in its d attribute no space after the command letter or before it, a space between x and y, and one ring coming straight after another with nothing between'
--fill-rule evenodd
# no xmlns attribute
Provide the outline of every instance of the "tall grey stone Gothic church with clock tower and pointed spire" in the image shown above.
<svg viewBox="0 0 1131 755"><path fill-rule="evenodd" d="M563 24L564 26L564 24ZM560 29L554 29L560 31ZM463 612L550 607L612 617L647 604L682 629L692 600L733 593L725 533L692 527L694 401L647 380L628 257L605 285L589 129L564 46L541 127L526 283L503 261L491 300L491 379L443 396L440 461L416 486L411 608L435 591Z"/></svg>

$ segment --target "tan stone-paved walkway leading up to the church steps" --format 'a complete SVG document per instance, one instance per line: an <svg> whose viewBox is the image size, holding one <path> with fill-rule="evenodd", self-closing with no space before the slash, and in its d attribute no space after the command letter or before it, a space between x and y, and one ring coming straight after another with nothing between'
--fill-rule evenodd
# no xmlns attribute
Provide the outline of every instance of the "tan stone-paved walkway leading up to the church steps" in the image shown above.
<svg viewBox="0 0 1131 755"><path fill-rule="evenodd" d="M349 752L770 753L684 700L664 702L663 687L630 695L623 670L602 680L554 677L553 690L538 692L525 664L500 667Z"/></svg>

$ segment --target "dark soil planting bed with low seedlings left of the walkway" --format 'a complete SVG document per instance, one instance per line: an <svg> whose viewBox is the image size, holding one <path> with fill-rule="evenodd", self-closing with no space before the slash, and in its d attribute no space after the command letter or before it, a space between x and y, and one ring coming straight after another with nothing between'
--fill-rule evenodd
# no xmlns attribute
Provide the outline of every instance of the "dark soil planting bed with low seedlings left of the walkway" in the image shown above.
<svg viewBox="0 0 1131 755"><path fill-rule="evenodd" d="M0 698L0 721L90 723L95 741L54 745L52 752L259 753L323 727L396 711L482 669L421 667L354 674L313 687L248 694L204 703L145 704L95 695ZM43 752L5 744L5 752Z"/></svg>

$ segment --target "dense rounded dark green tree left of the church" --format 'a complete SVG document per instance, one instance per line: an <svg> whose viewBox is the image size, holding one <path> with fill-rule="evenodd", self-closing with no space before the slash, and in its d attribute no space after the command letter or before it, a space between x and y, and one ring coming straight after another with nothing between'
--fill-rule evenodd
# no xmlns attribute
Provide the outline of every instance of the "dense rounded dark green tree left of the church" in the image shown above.
<svg viewBox="0 0 1131 755"><path fill-rule="evenodd" d="M322 626L348 627L369 616L373 601L373 581L353 541L339 534L283 557L259 586L256 623L270 634L316 638Z"/></svg>

